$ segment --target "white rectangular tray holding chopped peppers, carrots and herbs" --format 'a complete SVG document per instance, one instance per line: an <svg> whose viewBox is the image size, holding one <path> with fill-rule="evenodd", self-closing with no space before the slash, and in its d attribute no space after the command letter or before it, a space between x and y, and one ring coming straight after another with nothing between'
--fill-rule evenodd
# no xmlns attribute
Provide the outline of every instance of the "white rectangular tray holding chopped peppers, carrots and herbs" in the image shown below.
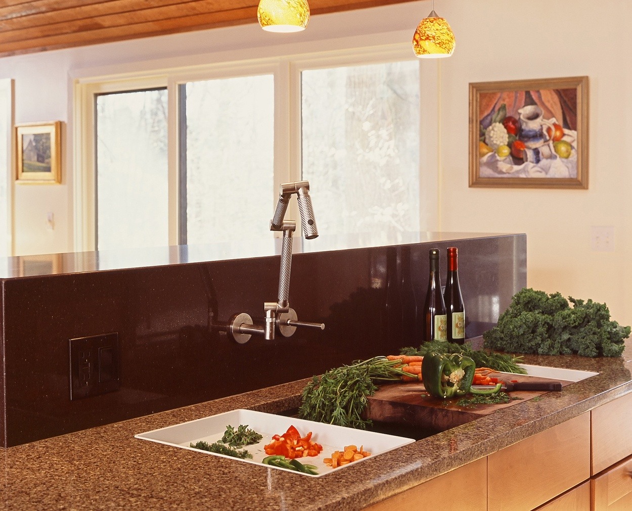
<svg viewBox="0 0 632 511"><path fill-rule="evenodd" d="M252 454L252 459L234 458L190 447L191 443L198 442L198 440L204 440L209 443L221 440L224 435L224 431L226 431L226 426L229 424L235 429L237 429L240 424L247 425L248 428L257 431L257 433L264 436L261 442L245 447L245 449ZM301 436L305 436L309 431L312 431L312 441L322 445L322 452L320 452L317 457L308 456L299 459L299 461L303 464L307 463L316 466L316 471L318 472L317 476L312 476L311 474L305 474L298 471L290 471L288 469L262 463L262 460L267 456L264 451L264 445L272 441L273 435L283 435L283 433L285 433L292 424ZM245 409L233 410L197 419L195 421L167 426L166 428L161 428L159 430L146 431L145 433L134 435L134 437L140 438L141 440L164 443L166 445L173 445L174 447L181 447L196 452L202 452L204 454L212 454L222 458L245 461L246 463L253 463L267 468L286 470L288 472L293 472L294 474L301 474L303 476L316 478L324 476L329 472L343 470L367 459L363 458L340 466L336 469L332 469L324 464L323 460L325 458L331 457L332 452L336 450L342 451L346 445L356 445L358 448L362 445L365 451L371 453L368 457L370 459L394 448L415 442L413 438L404 438L403 436L385 435L384 433L374 433L374 431L355 430L353 428L344 428L343 426L334 426L333 424L317 423L313 421L306 421L305 419L296 419L293 417Z"/></svg>

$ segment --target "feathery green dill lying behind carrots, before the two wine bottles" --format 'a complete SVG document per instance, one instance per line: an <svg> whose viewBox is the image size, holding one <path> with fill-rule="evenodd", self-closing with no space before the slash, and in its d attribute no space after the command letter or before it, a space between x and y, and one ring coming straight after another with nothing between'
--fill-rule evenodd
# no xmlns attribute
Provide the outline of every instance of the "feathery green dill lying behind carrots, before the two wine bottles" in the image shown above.
<svg viewBox="0 0 632 511"><path fill-rule="evenodd" d="M400 350L403 355L421 355L435 352L441 354L460 353L470 357L477 367L489 367L502 373L525 374L526 371L518 366L522 362L522 357L507 355L504 353L494 353L483 349L473 349L469 344L456 344L456 342L446 342L444 340L430 340L424 342L420 347L406 347Z"/></svg>

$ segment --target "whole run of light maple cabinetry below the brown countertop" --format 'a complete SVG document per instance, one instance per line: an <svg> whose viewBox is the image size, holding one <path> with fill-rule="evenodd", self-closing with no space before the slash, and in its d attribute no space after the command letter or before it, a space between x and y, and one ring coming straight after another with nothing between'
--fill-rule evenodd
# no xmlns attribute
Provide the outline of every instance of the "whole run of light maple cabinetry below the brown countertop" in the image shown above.
<svg viewBox="0 0 632 511"><path fill-rule="evenodd" d="M442 509L631 510L632 393L366 509L420 499Z"/></svg>

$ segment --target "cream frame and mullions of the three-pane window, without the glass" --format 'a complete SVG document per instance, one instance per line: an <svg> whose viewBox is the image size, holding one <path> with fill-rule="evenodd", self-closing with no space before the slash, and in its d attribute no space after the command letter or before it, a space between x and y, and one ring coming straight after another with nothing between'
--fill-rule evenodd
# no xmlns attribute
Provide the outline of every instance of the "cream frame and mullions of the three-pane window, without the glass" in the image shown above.
<svg viewBox="0 0 632 511"><path fill-rule="evenodd" d="M233 57L233 58L231 58ZM179 183L179 86L188 81L235 78L262 74L274 75L274 183L270 195L270 214L274 210L279 186L301 179L301 71L339 66L356 66L415 60L408 44L380 47L364 46L330 51L305 52L257 59L235 59L178 68L159 68L136 73L75 78L73 87L75 140L73 162L73 242L75 251L95 250L95 96L103 93L167 88L167 164L169 193L169 245L180 243ZM435 64L435 63L432 63ZM420 225L438 225L439 147L437 66L420 65ZM433 149L434 148L434 149ZM433 169L423 172L423 169ZM291 201L288 215L295 218L298 207ZM431 229L427 229L431 230ZM276 233L278 235L278 233ZM297 233L300 234L300 233ZM298 236L297 236L298 237Z"/></svg>

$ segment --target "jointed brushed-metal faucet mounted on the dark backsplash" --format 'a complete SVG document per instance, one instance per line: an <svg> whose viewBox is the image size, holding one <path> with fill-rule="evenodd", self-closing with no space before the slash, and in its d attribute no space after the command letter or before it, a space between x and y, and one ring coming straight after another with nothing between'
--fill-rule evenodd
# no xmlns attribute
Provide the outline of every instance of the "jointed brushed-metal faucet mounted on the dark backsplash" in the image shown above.
<svg viewBox="0 0 632 511"><path fill-rule="evenodd" d="M289 200L296 194L298 211L301 215L301 230L305 239L318 237L318 229L312 199L310 198L310 184L308 181L295 181L281 184L281 192L277 201L274 217L270 220L270 231L283 232L281 246L281 268L279 270L279 294L276 302L265 302L265 327L252 324L252 318L246 313L234 315L228 323L228 333L233 340L243 344L250 340L253 334L263 334L265 339L274 339L275 327L281 335L289 337L294 334L296 327L320 328L324 330L324 323L307 323L297 321L296 311L289 307L289 275L292 267L292 236L296 231L294 220L285 220Z"/></svg>

